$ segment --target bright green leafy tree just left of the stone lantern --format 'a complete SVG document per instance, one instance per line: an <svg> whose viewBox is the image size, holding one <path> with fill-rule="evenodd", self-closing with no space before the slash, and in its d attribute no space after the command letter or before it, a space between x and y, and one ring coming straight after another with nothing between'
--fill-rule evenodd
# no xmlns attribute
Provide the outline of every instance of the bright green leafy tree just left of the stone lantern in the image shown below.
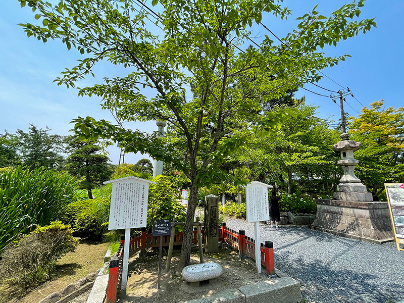
<svg viewBox="0 0 404 303"><path fill-rule="evenodd" d="M338 133L327 120L315 116L317 107L306 105L304 98L294 100L294 105L294 116L285 117L278 131L244 147L239 159L251 170L251 177L276 183L288 193L293 183L312 193L328 193L340 177L332 150Z"/></svg>

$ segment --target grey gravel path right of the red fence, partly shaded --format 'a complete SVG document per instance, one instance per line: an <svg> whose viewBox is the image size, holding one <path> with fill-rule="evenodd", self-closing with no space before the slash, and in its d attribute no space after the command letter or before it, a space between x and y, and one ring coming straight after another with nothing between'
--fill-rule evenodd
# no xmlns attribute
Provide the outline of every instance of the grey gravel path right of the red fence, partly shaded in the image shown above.
<svg viewBox="0 0 404 303"><path fill-rule="evenodd" d="M254 223L228 219L226 226L254 237ZM260 225L261 242L274 243L275 267L301 282L307 302L393 303L404 299L404 253L308 227Z"/></svg>

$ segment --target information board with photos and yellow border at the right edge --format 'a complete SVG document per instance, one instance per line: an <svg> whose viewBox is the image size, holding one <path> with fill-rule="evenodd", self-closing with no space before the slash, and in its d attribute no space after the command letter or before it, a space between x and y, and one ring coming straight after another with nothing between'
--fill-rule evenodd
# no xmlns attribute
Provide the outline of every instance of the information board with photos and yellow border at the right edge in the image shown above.
<svg viewBox="0 0 404 303"><path fill-rule="evenodd" d="M391 225L397 249L404 251L404 183L385 183Z"/></svg>

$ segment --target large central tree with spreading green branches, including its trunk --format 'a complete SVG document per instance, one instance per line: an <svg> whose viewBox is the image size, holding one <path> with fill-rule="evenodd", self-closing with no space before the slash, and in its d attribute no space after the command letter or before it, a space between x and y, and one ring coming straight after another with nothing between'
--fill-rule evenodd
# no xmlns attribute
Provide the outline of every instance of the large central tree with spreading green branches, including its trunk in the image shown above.
<svg viewBox="0 0 404 303"><path fill-rule="evenodd" d="M363 1L344 5L329 18L313 9L299 18L284 44L265 37L261 48L242 51L253 23L260 24L267 13L286 18L290 10L274 0L153 0L161 13L154 13L160 29L151 32L150 13L139 11L133 0L62 0L55 6L42 0L19 2L41 21L23 25L28 36L43 42L60 39L82 55L77 66L62 73L59 84L74 86L101 60L127 68L126 76L79 90L80 95L101 97L118 126L79 117L75 129L172 162L187 176L190 194L177 270L190 260L198 188L226 178L220 164L254 132L268 133L280 124L284 113L263 113L263 100L318 81L318 70L346 57L326 57L320 48L375 25L373 19L349 20L360 15ZM142 87L156 95L146 97ZM191 98L186 97L189 88ZM167 121L167 136L122 127L122 121L135 120ZM242 127L233 128L234 121Z"/></svg>

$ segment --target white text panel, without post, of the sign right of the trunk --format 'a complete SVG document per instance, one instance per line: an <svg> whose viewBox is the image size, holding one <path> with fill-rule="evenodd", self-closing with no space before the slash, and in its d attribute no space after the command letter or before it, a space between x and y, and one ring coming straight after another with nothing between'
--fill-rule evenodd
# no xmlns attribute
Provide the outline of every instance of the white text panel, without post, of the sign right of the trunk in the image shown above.
<svg viewBox="0 0 404 303"><path fill-rule="evenodd" d="M272 186L258 181L245 187L247 222L269 220L268 188Z"/></svg>

